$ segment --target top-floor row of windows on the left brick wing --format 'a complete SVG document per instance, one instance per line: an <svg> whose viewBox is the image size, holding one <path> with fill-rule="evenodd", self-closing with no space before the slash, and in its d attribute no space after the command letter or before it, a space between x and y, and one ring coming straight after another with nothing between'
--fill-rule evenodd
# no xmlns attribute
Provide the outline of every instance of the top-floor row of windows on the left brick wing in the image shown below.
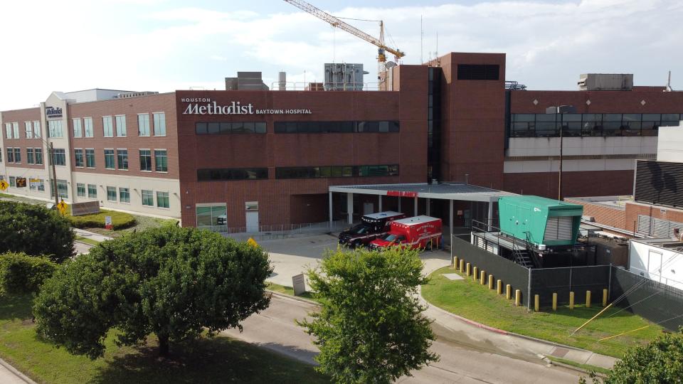
<svg viewBox="0 0 683 384"><path fill-rule="evenodd" d="M77 117L71 119L73 137L95 137L92 117ZM164 112L152 113L150 125L149 113L137 114L137 135L139 137L150 136L152 129L154 136L166 136L166 114ZM41 122L24 122L26 139L41 137ZM102 137L127 137L126 115L102 116ZM19 123L5 123L5 137L7 139L20 139ZM61 119L48 120L48 137L64 137L64 128Z"/></svg>

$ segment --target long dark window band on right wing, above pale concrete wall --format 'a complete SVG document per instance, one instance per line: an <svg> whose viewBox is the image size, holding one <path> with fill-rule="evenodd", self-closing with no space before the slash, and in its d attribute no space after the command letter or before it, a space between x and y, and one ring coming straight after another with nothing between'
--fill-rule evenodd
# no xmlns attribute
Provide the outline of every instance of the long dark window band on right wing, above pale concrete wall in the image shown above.
<svg viewBox="0 0 683 384"><path fill-rule="evenodd" d="M658 127L677 126L677 113L512 114L510 137L656 136Z"/></svg>

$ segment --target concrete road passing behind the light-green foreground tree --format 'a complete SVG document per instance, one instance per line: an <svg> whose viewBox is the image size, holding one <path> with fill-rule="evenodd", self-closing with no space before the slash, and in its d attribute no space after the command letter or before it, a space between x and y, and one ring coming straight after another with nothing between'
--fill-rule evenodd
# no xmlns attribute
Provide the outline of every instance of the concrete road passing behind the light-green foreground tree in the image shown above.
<svg viewBox="0 0 683 384"><path fill-rule="evenodd" d="M223 334L254 343L292 358L314 363L317 348L312 336L295 324L314 311L312 304L273 295L270 307L243 321L244 331L236 329ZM538 359L519 360L499 354L496 346L472 345L470 339L434 324L437 340L432 349L440 361L398 383L578 383L579 374L556 366L548 367Z"/></svg>

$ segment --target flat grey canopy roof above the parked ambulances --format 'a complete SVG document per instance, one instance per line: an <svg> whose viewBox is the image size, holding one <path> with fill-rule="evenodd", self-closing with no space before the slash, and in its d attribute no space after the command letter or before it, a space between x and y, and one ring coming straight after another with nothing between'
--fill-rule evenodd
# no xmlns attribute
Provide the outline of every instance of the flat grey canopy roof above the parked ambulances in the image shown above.
<svg viewBox="0 0 683 384"><path fill-rule="evenodd" d="M364 195L398 196L412 198L438 198L443 200L481 201L495 203L501 196L516 196L517 193L472 186L463 183L415 183L374 184L359 186L330 186L330 192L359 193Z"/></svg>

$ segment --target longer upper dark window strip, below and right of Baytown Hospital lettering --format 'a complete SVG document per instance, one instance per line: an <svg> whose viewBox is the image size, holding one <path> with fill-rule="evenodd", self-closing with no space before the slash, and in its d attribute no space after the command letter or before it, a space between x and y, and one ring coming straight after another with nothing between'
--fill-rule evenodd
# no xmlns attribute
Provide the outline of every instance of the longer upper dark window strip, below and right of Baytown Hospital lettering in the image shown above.
<svg viewBox="0 0 683 384"><path fill-rule="evenodd" d="M275 122L275 133L398 132L396 121Z"/></svg>

